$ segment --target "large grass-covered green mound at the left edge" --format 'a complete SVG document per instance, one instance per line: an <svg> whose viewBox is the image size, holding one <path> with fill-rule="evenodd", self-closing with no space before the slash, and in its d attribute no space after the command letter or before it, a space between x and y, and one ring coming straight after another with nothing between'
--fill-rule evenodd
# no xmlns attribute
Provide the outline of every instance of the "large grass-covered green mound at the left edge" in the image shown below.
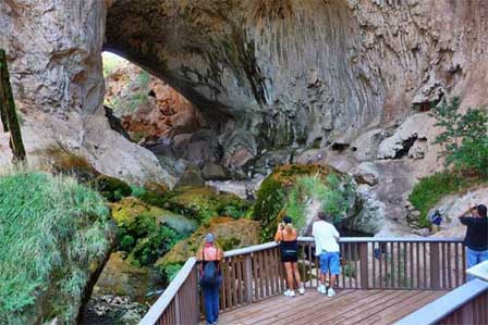
<svg viewBox="0 0 488 325"><path fill-rule="evenodd" d="M73 178L1 176L0 324L74 322L112 232L106 201Z"/></svg>

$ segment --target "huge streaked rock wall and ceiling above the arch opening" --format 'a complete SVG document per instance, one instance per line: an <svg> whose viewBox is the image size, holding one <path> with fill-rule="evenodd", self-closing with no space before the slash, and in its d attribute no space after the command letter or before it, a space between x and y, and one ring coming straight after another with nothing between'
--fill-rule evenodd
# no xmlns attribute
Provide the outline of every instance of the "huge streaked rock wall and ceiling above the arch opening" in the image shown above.
<svg viewBox="0 0 488 325"><path fill-rule="evenodd" d="M480 103L484 1L117 0L106 48L259 148L349 143L446 93ZM472 87L476 84L475 87Z"/></svg>

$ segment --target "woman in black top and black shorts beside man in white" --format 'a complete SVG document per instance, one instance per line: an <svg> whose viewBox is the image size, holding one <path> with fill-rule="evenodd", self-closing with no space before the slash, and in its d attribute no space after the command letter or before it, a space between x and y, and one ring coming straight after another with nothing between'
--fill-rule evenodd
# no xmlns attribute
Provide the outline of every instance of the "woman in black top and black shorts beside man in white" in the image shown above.
<svg viewBox="0 0 488 325"><path fill-rule="evenodd" d="M283 222L278 225L277 234L274 235L274 241L280 243L281 249L281 262L284 265L286 272L288 290L284 291L284 296L295 297L294 280L298 284L300 295L305 293L305 289L302 285L298 272L298 235L296 229L293 228L292 218L284 216Z"/></svg>

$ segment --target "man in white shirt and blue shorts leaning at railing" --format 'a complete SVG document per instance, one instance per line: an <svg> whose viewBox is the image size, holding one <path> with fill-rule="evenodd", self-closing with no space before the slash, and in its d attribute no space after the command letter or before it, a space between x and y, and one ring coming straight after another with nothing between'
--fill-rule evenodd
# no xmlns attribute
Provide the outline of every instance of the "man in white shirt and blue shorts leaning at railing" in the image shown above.
<svg viewBox="0 0 488 325"><path fill-rule="evenodd" d="M326 214L319 212L317 214L319 221L315 222L312 227L312 235L315 238L315 254L320 262L320 284L317 291L322 295L333 297L335 291L333 285L337 276L341 273L341 265L339 262L339 243L340 238L338 229L326 222ZM330 271L330 286L326 288L326 275Z"/></svg>

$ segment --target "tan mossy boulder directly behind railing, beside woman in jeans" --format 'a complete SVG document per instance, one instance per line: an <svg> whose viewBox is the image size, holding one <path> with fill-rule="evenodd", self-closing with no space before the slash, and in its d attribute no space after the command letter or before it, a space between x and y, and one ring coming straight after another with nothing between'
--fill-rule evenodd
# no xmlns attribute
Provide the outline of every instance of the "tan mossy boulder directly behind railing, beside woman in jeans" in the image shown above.
<svg viewBox="0 0 488 325"><path fill-rule="evenodd" d="M208 233L215 234L217 243L228 251L258 243L260 226L259 222L252 220L212 217L208 225L200 226L190 238L178 242L170 252L156 262L156 266L166 272L168 267L182 265L196 254Z"/></svg>

